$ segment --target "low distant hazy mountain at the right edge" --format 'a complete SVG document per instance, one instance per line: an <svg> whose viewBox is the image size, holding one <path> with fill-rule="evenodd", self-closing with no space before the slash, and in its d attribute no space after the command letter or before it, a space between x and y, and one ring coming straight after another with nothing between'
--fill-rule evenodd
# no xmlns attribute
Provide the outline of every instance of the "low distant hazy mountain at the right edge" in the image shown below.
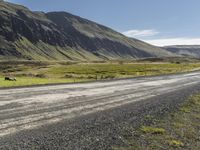
<svg viewBox="0 0 200 150"><path fill-rule="evenodd" d="M174 45L163 48L176 55L200 58L200 45Z"/></svg>

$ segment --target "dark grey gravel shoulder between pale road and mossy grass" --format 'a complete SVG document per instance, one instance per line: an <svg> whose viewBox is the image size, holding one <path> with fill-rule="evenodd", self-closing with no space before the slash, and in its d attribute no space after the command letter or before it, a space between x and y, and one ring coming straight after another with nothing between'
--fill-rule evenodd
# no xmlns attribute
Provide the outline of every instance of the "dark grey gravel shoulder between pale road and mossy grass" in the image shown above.
<svg viewBox="0 0 200 150"><path fill-rule="evenodd" d="M127 146L146 116L160 119L176 111L200 85L140 102L23 131L0 139L1 149L112 149Z"/></svg>

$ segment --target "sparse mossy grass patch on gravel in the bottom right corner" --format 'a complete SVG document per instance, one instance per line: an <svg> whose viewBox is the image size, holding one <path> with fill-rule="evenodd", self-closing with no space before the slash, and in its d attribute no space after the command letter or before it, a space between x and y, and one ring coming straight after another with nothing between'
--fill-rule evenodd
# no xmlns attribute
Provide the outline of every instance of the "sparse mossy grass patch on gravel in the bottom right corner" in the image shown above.
<svg viewBox="0 0 200 150"><path fill-rule="evenodd" d="M200 95L191 97L179 110L161 120L147 116L151 124L135 129L127 138L127 147L114 150L199 150Z"/></svg>

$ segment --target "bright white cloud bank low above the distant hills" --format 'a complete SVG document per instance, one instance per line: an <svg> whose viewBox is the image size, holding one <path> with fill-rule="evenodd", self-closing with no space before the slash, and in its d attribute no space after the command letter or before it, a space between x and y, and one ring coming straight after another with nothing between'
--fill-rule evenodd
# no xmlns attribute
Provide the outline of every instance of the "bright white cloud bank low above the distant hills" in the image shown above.
<svg viewBox="0 0 200 150"><path fill-rule="evenodd" d="M156 46L168 46L168 45L200 45L200 38L165 38L165 39L153 39L144 40L147 43Z"/></svg>

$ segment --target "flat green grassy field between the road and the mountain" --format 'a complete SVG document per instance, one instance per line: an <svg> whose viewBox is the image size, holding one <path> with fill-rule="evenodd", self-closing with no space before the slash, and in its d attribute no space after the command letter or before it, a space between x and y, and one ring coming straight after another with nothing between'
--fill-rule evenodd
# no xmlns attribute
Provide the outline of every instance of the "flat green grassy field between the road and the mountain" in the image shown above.
<svg viewBox="0 0 200 150"><path fill-rule="evenodd" d="M200 63L0 62L0 87L71 83L188 72ZM16 82L4 81L5 76Z"/></svg>

